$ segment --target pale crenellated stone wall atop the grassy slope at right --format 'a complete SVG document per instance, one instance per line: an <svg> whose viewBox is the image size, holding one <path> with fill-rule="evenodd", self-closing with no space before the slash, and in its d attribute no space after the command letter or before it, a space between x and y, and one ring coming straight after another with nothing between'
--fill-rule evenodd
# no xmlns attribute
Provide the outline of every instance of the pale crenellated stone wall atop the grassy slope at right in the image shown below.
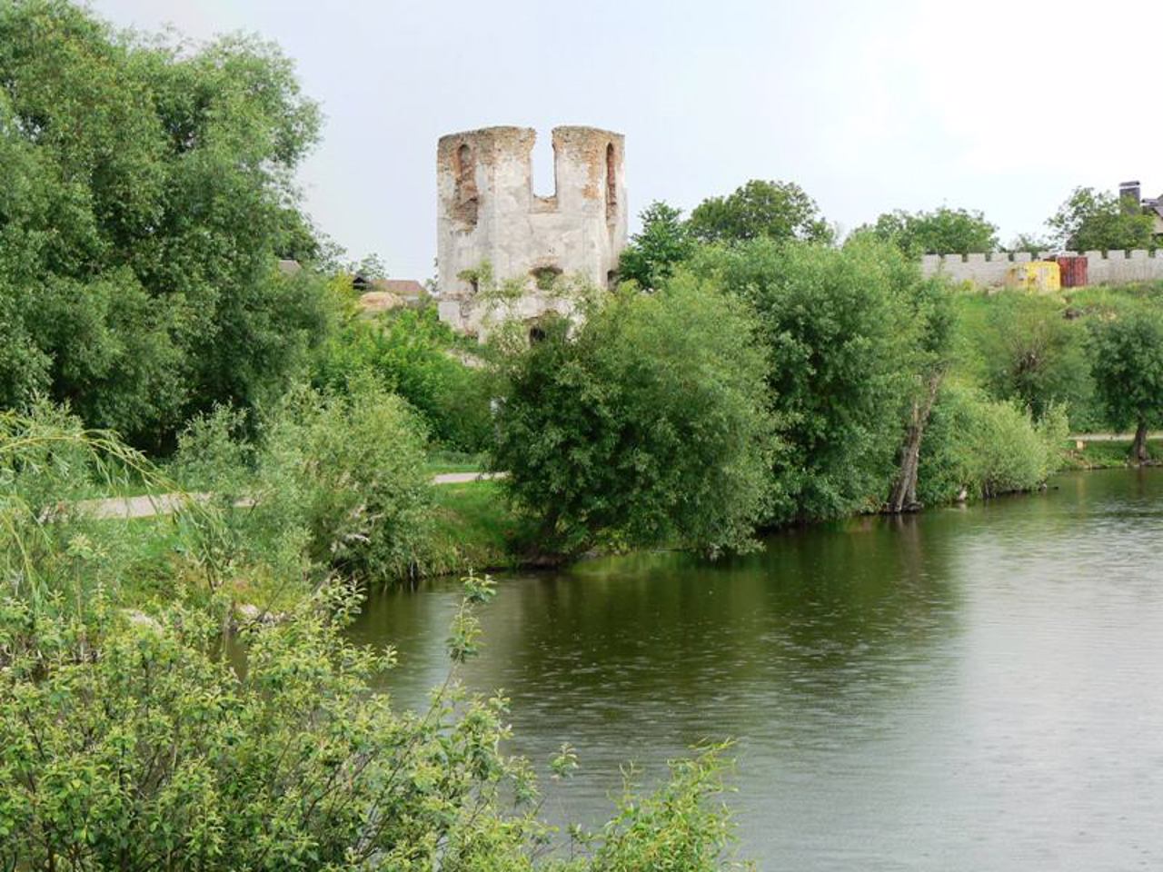
<svg viewBox="0 0 1163 872"><path fill-rule="evenodd" d="M1087 278L1091 285L1118 285L1127 281L1163 279L1163 252L1135 251L1063 251L1062 255L1086 256ZM1053 260L1055 255L994 252L992 255L926 255L921 269L926 276L941 273L954 281L972 281L986 287L1005 284L1006 272L1015 263Z"/></svg>

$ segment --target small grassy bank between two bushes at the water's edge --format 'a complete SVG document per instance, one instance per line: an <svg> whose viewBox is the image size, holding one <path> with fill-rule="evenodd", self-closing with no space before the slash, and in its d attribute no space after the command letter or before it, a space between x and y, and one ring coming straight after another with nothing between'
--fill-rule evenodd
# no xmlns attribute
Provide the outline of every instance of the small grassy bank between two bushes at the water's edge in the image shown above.
<svg viewBox="0 0 1163 872"><path fill-rule="evenodd" d="M531 542L528 519L514 514L497 481L433 487L437 573L509 569Z"/></svg>

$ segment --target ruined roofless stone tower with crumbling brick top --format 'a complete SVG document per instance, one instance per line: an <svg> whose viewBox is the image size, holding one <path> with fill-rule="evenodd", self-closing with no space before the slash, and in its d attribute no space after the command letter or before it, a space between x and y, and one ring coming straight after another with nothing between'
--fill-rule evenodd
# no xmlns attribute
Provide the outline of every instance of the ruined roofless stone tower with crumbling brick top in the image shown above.
<svg viewBox="0 0 1163 872"><path fill-rule="evenodd" d="M554 193L533 191L536 133L488 127L436 146L440 316L483 336L490 305L465 272L487 263L527 287L513 314L535 321L568 303L543 292L555 276L606 287L626 245L625 138L591 127L554 129Z"/></svg>

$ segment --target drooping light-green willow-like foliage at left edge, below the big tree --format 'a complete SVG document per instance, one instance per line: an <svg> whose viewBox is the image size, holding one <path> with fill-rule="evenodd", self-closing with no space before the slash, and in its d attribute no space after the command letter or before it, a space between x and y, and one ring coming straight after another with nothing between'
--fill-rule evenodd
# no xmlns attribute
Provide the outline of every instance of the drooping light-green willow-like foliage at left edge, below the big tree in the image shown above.
<svg viewBox="0 0 1163 872"><path fill-rule="evenodd" d="M134 489L171 494L171 517L126 522L94 516L88 499ZM221 534L213 507L180 489L115 435L86 430L45 400L29 414L0 413L0 577L37 615L99 593L137 605L142 584L165 579L165 595L206 596L221 584ZM213 550L207 550L209 546ZM215 552L216 551L216 552Z"/></svg>

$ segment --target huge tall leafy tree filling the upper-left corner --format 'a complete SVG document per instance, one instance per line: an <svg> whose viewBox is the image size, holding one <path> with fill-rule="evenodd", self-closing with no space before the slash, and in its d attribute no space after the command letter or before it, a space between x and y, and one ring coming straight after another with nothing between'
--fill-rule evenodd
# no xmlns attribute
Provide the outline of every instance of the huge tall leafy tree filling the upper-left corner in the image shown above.
<svg viewBox="0 0 1163 872"><path fill-rule="evenodd" d="M270 400L329 313L294 171L319 128L290 62L191 49L64 0L0 2L0 400L45 391L163 446L193 410Z"/></svg>

